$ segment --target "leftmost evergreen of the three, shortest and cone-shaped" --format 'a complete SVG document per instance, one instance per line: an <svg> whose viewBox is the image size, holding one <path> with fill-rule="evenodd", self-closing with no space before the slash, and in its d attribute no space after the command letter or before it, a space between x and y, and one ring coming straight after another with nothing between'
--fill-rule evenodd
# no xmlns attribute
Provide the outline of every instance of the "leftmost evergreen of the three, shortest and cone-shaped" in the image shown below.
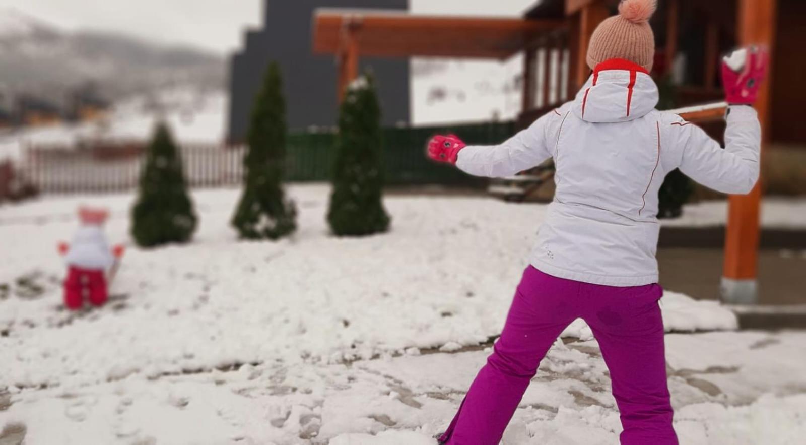
<svg viewBox="0 0 806 445"><path fill-rule="evenodd" d="M141 247L185 243L196 230L182 160L165 123L156 127L131 211L131 235Z"/></svg>

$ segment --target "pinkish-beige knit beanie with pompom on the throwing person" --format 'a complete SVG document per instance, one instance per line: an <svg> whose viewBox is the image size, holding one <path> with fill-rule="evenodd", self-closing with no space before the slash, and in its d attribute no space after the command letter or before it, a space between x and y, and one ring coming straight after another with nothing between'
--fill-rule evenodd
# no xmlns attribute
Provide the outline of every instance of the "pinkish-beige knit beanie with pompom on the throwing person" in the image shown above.
<svg viewBox="0 0 806 445"><path fill-rule="evenodd" d="M588 66L609 59L625 59L652 71L654 33L650 18L658 7L657 0L621 0L618 15L596 27L588 47Z"/></svg>

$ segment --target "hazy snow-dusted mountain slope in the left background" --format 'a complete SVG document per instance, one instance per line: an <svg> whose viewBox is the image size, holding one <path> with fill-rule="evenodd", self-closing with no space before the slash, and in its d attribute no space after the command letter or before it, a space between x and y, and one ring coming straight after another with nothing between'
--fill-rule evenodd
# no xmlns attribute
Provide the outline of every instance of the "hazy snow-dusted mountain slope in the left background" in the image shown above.
<svg viewBox="0 0 806 445"><path fill-rule="evenodd" d="M108 98L174 85L222 89L221 55L166 47L103 31L63 31L0 9L0 94L19 92L61 98L91 83Z"/></svg>

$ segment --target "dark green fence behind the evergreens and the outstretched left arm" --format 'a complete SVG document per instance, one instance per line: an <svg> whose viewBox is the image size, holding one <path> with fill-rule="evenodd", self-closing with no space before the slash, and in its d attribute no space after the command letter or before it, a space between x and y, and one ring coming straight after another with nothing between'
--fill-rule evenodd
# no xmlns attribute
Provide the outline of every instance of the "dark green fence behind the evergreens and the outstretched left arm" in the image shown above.
<svg viewBox="0 0 806 445"><path fill-rule="evenodd" d="M449 165L426 159L426 142L455 133L470 144L501 143L515 133L515 123L480 123L384 129L384 164L389 185L480 185L483 182ZM295 132L288 139L287 181L330 181L334 133Z"/></svg>

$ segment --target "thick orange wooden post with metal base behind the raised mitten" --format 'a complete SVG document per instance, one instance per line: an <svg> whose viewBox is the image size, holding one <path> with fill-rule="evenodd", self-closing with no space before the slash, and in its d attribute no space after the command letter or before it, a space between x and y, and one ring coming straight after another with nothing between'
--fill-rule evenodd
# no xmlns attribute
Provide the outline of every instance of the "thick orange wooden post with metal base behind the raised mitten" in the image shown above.
<svg viewBox="0 0 806 445"><path fill-rule="evenodd" d="M739 44L764 44L770 50L775 38L776 0L737 0ZM769 138L770 127L770 75L762 85L755 105L762 126L762 143ZM759 209L761 185L748 195L729 198L728 230L725 238L725 267L722 273L722 301L734 304L752 304L758 301Z"/></svg>

